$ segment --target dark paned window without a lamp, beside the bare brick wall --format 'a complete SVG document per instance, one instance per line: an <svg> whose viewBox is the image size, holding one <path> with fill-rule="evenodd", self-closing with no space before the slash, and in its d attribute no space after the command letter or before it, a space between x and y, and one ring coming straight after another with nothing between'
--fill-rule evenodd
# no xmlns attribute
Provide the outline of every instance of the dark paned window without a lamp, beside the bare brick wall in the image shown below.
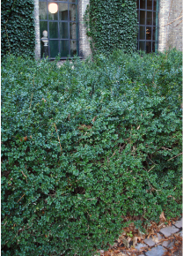
<svg viewBox="0 0 183 256"><path fill-rule="evenodd" d="M146 53L158 47L158 0L137 0L138 37L137 49Z"/></svg>

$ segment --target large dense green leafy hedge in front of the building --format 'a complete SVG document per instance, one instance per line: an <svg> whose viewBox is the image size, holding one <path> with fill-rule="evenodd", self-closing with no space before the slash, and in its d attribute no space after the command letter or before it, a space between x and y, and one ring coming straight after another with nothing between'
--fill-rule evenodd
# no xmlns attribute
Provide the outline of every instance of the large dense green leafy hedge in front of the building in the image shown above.
<svg viewBox="0 0 183 256"><path fill-rule="evenodd" d="M183 210L183 53L2 66L3 255L96 254Z"/></svg>

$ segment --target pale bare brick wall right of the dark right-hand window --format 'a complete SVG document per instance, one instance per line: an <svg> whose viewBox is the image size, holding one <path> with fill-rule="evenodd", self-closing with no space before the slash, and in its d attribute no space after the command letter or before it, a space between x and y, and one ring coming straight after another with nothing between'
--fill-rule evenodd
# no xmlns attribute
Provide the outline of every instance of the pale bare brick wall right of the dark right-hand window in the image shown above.
<svg viewBox="0 0 183 256"><path fill-rule="evenodd" d="M183 0L160 0L158 49L172 48L183 51Z"/></svg>

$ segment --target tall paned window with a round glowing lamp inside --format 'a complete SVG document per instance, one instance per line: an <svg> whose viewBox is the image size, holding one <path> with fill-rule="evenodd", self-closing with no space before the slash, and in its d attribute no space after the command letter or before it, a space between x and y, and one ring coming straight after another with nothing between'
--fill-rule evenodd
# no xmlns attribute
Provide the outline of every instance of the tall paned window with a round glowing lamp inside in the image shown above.
<svg viewBox="0 0 183 256"><path fill-rule="evenodd" d="M54 7L54 8L53 8ZM40 0L40 39L48 32L48 56L54 59L78 54L77 0ZM41 57L44 44L40 45Z"/></svg>

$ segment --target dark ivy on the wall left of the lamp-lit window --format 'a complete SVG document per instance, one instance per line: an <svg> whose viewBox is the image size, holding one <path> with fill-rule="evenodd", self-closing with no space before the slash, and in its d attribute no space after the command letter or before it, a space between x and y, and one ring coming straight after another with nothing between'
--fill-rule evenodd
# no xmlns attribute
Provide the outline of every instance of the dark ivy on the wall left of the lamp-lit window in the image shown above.
<svg viewBox="0 0 183 256"><path fill-rule="evenodd" d="M33 56L33 0L1 1L1 56Z"/></svg>

